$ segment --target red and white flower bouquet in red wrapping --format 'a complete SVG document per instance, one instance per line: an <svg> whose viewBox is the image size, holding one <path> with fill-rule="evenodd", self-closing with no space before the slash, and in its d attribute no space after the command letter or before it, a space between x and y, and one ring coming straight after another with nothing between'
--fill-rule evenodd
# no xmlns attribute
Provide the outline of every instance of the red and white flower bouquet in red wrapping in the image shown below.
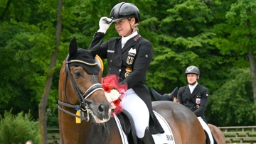
<svg viewBox="0 0 256 144"><path fill-rule="evenodd" d="M127 84L120 85L119 79L121 78L112 74L102 78L101 82L107 100L110 102L112 109L111 116L114 116L114 113L117 114L122 111L122 99L127 91Z"/></svg>

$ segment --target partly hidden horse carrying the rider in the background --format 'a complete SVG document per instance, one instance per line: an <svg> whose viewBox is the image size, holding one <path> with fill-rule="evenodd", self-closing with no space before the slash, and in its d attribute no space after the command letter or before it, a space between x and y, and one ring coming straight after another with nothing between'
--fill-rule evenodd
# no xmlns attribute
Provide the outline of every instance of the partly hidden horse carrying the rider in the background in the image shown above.
<svg viewBox="0 0 256 144"><path fill-rule="evenodd" d="M176 87L170 94L161 95L154 89L151 89L151 92L158 101L175 101L178 94L178 87ZM213 133L215 140L217 140L218 144L225 144L225 135L220 130L220 128L210 123L208 123L208 126L210 128L210 131Z"/></svg>

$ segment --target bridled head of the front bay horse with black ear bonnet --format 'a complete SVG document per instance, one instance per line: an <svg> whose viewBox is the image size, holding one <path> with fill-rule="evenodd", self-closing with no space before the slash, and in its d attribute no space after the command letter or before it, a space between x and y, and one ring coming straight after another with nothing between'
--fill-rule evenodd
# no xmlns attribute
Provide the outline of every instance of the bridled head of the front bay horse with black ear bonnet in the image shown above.
<svg viewBox="0 0 256 144"><path fill-rule="evenodd" d="M78 48L73 38L69 55L60 70L59 109L72 111L69 114L73 116L75 109L87 111L87 118L91 113L96 123L110 120L110 103L100 84L101 74L95 55L89 50Z"/></svg>

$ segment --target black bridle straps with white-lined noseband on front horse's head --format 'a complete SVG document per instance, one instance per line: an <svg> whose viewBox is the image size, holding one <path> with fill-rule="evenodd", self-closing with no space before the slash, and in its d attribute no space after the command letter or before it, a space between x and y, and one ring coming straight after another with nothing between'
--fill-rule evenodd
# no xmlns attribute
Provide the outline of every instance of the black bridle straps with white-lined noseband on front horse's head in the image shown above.
<svg viewBox="0 0 256 144"><path fill-rule="evenodd" d="M68 55L68 57L69 57L69 55ZM86 103L85 100L90 95L92 95L95 91L103 90L102 84L100 84L100 83L93 84L91 87L89 87L89 89L87 89L87 91L84 94L81 94L80 90L78 89L78 85L75 83L75 80L72 77L72 74L70 73L68 64L70 64L71 62L80 62L80 63L85 64L85 65L97 65L97 63L96 62L95 63L88 63L88 62L84 62L82 60L70 60L70 61L68 61L68 57L66 57L66 59L65 59L65 82L64 82L64 84L65 84L64 85L65 99L66 99L66 101L68 101L67 96L65 94L65 91L66 91L66 86L67 86L67 77L70 77L70 80L71 80L71 82L73 84L73 87L75 89L75 94L76 94L76 96L78 96L78 100L79 100L80 104L79 105L70 104L69 101L68 101L68 103L58 101L58 104L62 105L62 106L67 106L67 107L70 107L70 108L74 108L77 111L78 110L81 110L81 111L84 111L84 112L87 111L87 117L85 118L84 116L78 116L74 113L71 113L70 111L67 111L67 110L61 108L60 106L58 106L58 109L60 109L60 111L63 111L65 113L70 114L71 116L75 116L75 117L81 118L82 120L89 121L90 120L90 117L89 117L90 108L89 108L89 106L88 106L88 104Z"/></svg>

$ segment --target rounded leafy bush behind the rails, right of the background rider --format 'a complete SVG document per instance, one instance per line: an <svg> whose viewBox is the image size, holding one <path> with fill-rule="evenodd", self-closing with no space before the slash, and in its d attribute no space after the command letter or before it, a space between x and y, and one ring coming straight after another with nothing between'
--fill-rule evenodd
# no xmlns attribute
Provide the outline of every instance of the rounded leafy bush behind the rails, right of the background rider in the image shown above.
<svg viewBox="0 0 256 144"><path fill-rule="evenodd" d="M255 115L250 69L233 68L230 78L209 101L213 123L217 126L253 126Z"/></svg>

